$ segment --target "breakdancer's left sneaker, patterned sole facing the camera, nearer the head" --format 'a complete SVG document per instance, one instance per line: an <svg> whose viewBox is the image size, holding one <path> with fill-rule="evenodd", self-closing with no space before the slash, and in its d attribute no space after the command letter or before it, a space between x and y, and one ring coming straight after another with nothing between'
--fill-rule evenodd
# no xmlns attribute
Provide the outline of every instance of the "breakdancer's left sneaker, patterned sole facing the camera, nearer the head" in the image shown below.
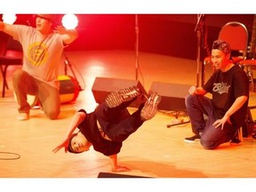
<svg viewBox="0 0 256 192"><path fill-rule="evenodd" d="M110 92L106 98L108 108L116 108L126 101L130 101L140 95L140 89L130 86L118 92Z"/></svg>

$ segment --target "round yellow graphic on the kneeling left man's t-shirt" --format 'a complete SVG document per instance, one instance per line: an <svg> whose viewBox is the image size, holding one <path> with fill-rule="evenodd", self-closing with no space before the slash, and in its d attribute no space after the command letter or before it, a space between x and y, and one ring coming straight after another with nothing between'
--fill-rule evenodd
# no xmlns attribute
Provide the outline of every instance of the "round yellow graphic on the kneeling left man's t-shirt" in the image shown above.
<svg viewBox="0 0 256 192"><path fill-rule="evenodd" d="M36 42L28 46L28 60L34 66L44 65L45 60L49 57L46 44Z"/></svg>

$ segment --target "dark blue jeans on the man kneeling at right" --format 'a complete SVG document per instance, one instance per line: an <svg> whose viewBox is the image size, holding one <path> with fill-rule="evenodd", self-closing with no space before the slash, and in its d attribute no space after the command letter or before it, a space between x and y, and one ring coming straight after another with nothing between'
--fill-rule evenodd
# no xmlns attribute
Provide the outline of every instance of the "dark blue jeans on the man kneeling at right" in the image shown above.
<svg viewBox="0 0 256 192"><path fill-rule="evenodd" d="M190 118L192 132L201 136L201 145L204 148L218 148L220 144L231 140L239 127L232 124L224 124L223 130L220 127L215 128L212 124L217 120L212 100L203 95L188 95L185 98L185 105ZM207 116L207 120L204 119Z"/></svg>

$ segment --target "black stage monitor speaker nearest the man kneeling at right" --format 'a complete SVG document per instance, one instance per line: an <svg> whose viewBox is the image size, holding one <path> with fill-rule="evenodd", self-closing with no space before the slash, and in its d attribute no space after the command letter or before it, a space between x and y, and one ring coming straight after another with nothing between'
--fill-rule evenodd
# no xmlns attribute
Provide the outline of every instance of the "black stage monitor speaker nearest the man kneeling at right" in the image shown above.
<svg viewBox="0 0 256 192"><path fill-rule="evenodd" d="M153 82L149 89L149 94L158 92L161 95L161 101L158 109L170 111L186 111L185 97L188 95L188 84L168 84Z"/></svg>

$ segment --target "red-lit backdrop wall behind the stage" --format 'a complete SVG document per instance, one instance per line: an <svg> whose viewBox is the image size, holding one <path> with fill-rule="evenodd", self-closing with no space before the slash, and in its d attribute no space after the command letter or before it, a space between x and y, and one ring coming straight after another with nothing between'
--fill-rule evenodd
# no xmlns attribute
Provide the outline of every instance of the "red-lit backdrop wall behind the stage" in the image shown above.
<svg viewBox="0 0 256 192"><path fill-rule="evenodd" d="M61 23L63 15L59 15ZM67 50L134 50L134 14L76 14L79 37ZM139 14L139 51L196 60L196 14ZM253 14L206 14L207 43L217 38L228 21L244 23L252 34ZM17 14L15 24L35 25L32 14ZM206 53L205 53L206 54ZM204 55L202 55L204 57Z"/></svg>

